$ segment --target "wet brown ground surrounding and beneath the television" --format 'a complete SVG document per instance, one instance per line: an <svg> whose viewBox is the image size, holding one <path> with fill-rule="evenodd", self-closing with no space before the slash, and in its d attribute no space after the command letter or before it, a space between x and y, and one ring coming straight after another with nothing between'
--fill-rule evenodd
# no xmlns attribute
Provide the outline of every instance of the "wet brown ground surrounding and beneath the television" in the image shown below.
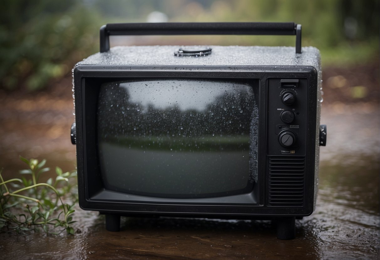
<svg viewBox="0 0 380 260"><path fill-rule="evenodd" d="M103 216L78 209L75 235L1 233L0 259L378 259L378 96L339 99L337 91L349 80L334 78L337 73L325 77L331 82L324 86L321 124L328 125L328 142L321 147L317 208L296 220L294 240L277 240L269 221L218 219L122 218L122 230L113 233L105 230ZM69 80L60 84L70 86ZM363 95L367 86L357 87L351 96ZM56 89L38 96L0 97L5 179L24 168L19 154L47 158L48 166L64 171L74 169L71 93Z"/></svg>

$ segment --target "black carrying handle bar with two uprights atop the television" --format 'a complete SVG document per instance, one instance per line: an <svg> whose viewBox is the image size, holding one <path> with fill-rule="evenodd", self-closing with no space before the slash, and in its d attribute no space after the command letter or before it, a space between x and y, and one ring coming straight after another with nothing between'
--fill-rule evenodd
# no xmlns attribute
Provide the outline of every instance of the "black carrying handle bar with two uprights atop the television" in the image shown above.
<svg viewBox="0 0 380 260"><path fill-rule="evenodd" d="M301 53L301 25L288 23L108 23L100 28L100 52L109 51L110 35L296 35Z"/></svg>

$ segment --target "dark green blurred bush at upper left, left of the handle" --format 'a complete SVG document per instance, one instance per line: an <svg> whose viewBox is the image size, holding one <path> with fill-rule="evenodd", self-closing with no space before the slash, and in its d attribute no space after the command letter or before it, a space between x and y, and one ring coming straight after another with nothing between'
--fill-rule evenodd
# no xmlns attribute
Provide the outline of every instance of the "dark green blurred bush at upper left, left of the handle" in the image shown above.
<svg viewBox="0 0 380 260"><path fill-rule="evenodd" d="M43 88L95 52L97 14L74 1L14 0L0 11L2 88Z"/></svg>

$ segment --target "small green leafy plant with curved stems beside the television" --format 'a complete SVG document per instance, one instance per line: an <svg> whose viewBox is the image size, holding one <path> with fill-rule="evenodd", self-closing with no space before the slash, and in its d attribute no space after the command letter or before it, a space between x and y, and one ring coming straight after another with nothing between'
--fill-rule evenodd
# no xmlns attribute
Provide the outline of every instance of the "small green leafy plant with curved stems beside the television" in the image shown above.
<svg viewBox="0 0 380 260"><path fill-rule="evenodd" d="M50 170L43 168L46 160L39 162L21 156L20 159L29 167L20 174L31 175L30 179L21 177L4 181L0 171L0 230L8 228L20 233L42 228L46 234L57 234L49 227L63 227L67 233L74 234L70 225L75 222L72 214L78 196L71 191L71 179L76 177L76 171L63 173L56 167L55 180L49 178L46 183L39 182L41 174Z"/></svg>

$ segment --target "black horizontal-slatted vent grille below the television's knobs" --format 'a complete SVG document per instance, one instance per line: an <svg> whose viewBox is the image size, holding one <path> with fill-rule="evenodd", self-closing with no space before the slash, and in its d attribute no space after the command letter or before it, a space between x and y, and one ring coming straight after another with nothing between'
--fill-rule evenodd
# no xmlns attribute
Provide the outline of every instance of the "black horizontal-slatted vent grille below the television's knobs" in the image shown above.
<svg viewBox="0 0 380 260"><path fill-rule="evenodd" d="M269 206L302 207L304 204L304 185L304 157L269 158Z"/></svg>

